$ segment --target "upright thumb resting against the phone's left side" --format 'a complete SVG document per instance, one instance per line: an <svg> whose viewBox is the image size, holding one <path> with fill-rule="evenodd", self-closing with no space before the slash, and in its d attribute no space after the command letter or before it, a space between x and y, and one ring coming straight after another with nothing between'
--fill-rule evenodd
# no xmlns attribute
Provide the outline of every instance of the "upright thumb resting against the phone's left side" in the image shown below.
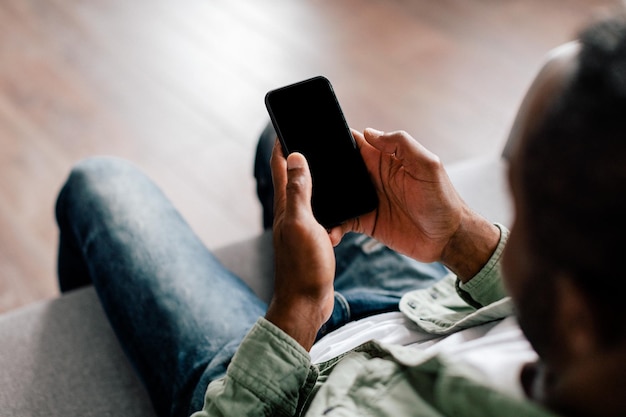
<svg viewBox="0 0 626 417"><path fill-rule="evenodd" d="M286 215L290 218L312 215L313 182L304 156L294 152L287 157Z"/></svg>

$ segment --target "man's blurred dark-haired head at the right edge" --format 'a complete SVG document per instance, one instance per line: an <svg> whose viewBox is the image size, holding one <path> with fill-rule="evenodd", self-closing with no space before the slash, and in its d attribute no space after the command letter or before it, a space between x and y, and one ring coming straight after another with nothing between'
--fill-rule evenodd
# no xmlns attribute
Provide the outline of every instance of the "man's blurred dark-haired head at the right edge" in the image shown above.
<svg viewBox="0 0 626 417"><path fill-rule="evenodd" d="M626 352L626 18L551 57L512 130L504 259L520 324L556 373Z"/></svg>

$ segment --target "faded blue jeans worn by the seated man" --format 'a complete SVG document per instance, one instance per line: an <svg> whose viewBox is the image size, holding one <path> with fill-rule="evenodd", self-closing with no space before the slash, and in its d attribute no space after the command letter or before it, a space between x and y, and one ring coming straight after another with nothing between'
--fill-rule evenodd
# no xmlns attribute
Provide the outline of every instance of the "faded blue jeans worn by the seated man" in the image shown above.
<svg viewBox="0 0 626 417"><path fill-rule="evenodd" d="M93 284L159 416L202 407L266 305L204 247L161 191L131 164L81 162L57 201L61 289ZM368 238L337 247L335 312L323 334L397 309L443 267L422 265Z"/></svg>

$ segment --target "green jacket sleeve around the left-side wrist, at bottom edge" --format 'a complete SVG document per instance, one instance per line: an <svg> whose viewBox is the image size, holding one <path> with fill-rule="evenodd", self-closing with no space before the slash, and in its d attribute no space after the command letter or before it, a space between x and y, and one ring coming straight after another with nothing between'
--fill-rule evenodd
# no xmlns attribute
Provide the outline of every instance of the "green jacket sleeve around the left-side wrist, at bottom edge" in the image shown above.
<svg viewBox="0 0 626 417"><path fill-rule="evenodd" d="M306 350L260 318L226 376L209 384L204 407L192 417L298 415L317 375Z"/></svg>

